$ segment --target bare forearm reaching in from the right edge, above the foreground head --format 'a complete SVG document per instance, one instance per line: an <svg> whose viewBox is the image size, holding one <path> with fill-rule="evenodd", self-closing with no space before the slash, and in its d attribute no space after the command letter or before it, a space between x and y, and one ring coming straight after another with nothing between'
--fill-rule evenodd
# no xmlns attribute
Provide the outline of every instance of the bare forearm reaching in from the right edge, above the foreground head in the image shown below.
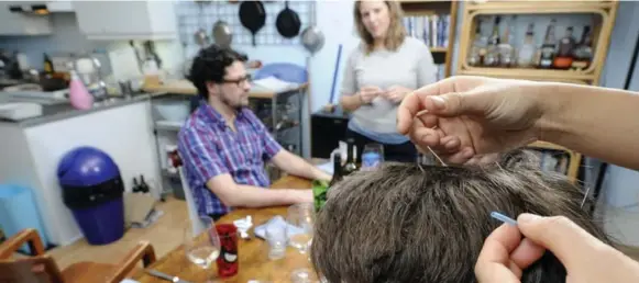
<svg viewBox="0 0 639 283"><path fill-rule="evenodd" d="M544 83L540 138L586 156L639 169L639 95L629 91Z"/></svg>

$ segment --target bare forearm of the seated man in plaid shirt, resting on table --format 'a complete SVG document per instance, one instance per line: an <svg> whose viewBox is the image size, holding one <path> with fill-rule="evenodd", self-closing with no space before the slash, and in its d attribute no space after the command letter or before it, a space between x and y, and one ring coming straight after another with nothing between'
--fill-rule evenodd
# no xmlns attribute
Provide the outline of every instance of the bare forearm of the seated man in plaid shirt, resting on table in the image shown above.
<svg viewBox="0 0 639 283"><path fill-rule="evenodd" d="M236 190L227 194L218 195L224 205L233 207L265 207L276 205L288 205L304 202L301 194L305 191L290 189L263 189L253 185L238 184Z"/></svg>

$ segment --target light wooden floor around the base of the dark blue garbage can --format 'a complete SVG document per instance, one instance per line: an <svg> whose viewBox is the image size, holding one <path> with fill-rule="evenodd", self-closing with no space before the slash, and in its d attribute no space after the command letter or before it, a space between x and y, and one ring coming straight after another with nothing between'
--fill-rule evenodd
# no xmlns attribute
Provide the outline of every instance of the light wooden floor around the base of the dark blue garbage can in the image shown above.
<svg viewBox="0 0 639 283"><path fill-rule="evenodd" d="M81 239L69 246L52 249L48 254L52 254L62 269L80 261L118 263L139 241L148 240L155 248L156 256L161 258L181 245L189 218L186 201L167 197L164 203L157 202L156 208L164 212L156 223L142 229L131 228L122 239L113 244L91 246Z"/></svg>

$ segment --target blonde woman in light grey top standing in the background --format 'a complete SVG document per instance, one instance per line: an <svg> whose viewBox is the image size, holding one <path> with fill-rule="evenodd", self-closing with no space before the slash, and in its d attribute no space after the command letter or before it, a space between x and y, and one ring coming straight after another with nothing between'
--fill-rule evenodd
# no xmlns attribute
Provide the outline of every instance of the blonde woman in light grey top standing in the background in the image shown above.
<svg viewBox="0 0 639 283"><path fill-rule="evenodd" d="M414 162L415 146L397 133L397 106L410 91L436 81L432 55L406 35L398 2L355 1L353 13L362 42L349 56L341 88L340 104L352 112L346 137L359 150L382 144L387 161Z"/></svg>

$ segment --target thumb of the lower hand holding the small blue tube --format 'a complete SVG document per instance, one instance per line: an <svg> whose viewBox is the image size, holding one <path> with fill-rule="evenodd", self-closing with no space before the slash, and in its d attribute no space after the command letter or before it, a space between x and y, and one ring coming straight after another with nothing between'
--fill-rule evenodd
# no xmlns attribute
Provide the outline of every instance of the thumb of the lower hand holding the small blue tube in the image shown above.
<svg viewBox="0 0 639 283"><path fill-rule="evenodd" d="M521 234L535 244L547 248L566 270L579 269L583 259L593 257L594 250L609 248L565 216L542 217L521 214L517 218Z"/></svg>

